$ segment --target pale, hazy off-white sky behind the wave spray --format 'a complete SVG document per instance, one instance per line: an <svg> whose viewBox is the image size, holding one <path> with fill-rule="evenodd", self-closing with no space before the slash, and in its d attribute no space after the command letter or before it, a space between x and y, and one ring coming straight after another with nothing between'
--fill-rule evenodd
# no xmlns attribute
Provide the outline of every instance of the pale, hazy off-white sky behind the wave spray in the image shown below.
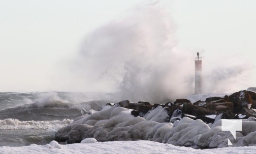
<svg viewBox="0 0 256 154"><path fill-rule="evenodd" d="M175 50L199 51L205 72L216 65L249 68L239 88L256 86L255 0L0 0L0 92L89 91L70 87L75 79L62 70L87 35L149 3L174 21Z"/></svg>

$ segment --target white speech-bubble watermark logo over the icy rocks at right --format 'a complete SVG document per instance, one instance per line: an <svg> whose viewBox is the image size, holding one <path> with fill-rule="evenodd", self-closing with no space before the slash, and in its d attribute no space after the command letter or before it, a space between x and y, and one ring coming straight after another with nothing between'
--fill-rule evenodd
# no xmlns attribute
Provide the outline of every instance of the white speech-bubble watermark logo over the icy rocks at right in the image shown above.
<svg viewBox="0 0 256 154"><path fill-rule="evenodd" d="M242 131L241 119L222 119L222 131L230 131L235 138L235 131ZM228 146L233 146L228 138Z"/></svg>

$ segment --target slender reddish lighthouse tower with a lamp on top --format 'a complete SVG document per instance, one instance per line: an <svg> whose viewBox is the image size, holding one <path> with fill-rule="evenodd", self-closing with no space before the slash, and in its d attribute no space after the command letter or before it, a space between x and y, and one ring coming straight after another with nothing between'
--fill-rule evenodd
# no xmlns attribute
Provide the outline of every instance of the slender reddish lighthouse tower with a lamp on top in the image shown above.
<svg viewBox="0 0 256 154"><path fill-rule="evenodd" d="M195 60L195 92L202 93L202 58L199 57L199 52Z"/></svg>

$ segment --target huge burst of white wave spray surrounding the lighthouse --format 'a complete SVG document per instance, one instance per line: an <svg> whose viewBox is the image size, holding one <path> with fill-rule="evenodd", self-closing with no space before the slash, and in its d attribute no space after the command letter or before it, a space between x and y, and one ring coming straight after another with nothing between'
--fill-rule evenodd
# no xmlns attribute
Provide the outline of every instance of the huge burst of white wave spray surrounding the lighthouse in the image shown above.
<svg viewBox="0 0 256 154"><path fill-rule="evenodd" d="M177 47L177 28L170 12L158 3L137 5L96 28L69 63L69 91L114 92L113 99L151 103L194 94L196 52ZM243 80L251 66L209 58L213 57L203 58L203 93L249 87Z"/></svg>

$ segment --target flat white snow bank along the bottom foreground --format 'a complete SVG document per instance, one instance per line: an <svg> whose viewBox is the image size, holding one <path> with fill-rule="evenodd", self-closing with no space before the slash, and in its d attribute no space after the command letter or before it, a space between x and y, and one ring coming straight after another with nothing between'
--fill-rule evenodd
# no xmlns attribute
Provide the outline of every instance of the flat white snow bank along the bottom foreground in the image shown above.
<svg viewBox="0 0 256 154"><path fill-rule="evenodd" d="M253 135L253 134L252 134ZM232 142L232 141L231 141ZM6 147L0 148L1 154L253 154L256 146L251 147L225 147L218 149L193 149L191 147L180 147L172 144L163 144L153 141L113 141L113 142L93 142L89 144L67 144L59 145L51 142L52 145L39 146L32 144L22 147ZM62 147L58 149L56 145ZM49 148L49 146L51 146Z"/></svg>

